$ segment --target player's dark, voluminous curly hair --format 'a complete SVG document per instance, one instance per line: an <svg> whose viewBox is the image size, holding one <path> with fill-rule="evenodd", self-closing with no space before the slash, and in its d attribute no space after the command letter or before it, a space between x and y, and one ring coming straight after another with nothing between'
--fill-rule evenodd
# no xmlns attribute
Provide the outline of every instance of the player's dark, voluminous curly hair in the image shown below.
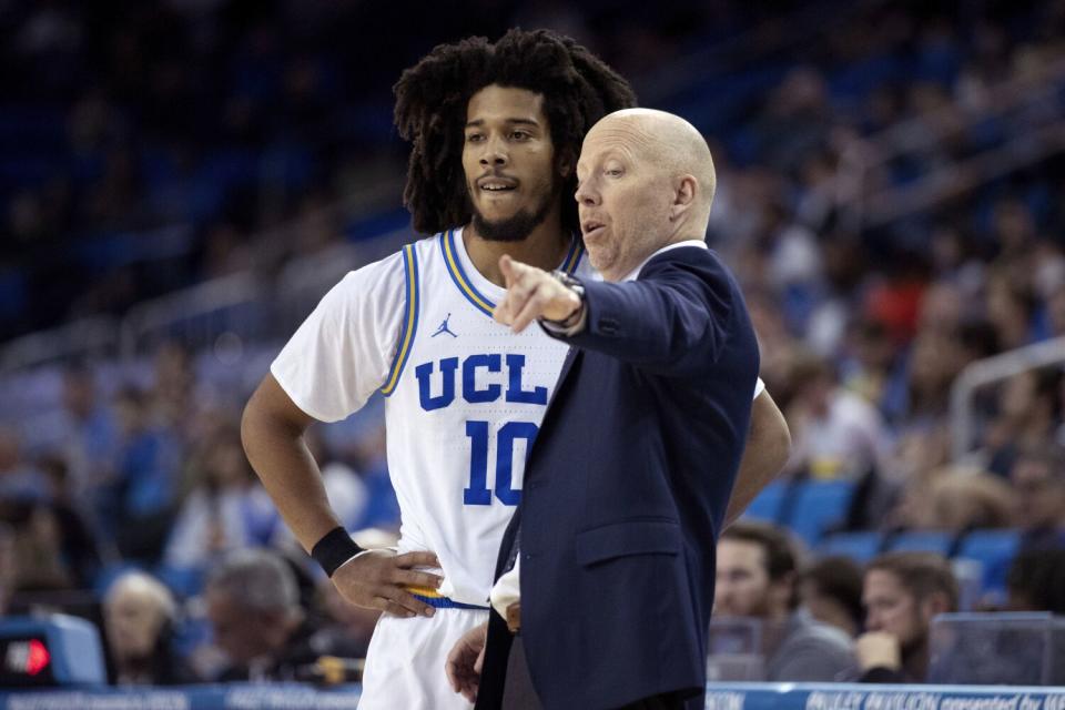
<svg viewBox="0 0 1065 710"><path fill-rule="evenodd" d="M636 105L628 82L568 37L549 30L508 31L495 44L474 37L439 44L403 72L393 88L399 135L413 142L404 204L425 234L466 224L470 205L463 172L463 129L470 97L487 85L544 97L556 161L576 160L585 133L604 115ZM572 194L570 174L562 194ZM562 224L577 229L577 205L562 201Z"/></svg>

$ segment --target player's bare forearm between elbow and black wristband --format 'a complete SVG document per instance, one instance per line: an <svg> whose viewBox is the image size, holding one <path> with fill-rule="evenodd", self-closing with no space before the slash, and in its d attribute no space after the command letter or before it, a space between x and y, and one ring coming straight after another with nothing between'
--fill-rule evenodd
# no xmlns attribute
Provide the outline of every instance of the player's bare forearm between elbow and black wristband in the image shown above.
<svg viewBox="0 0 1065 710"><path fill-rule="evenodd" d="M339 525L329 507L322 474L303 439L303 430L248 403L241 437L252 468L281 517L308 552Z"/></svg>

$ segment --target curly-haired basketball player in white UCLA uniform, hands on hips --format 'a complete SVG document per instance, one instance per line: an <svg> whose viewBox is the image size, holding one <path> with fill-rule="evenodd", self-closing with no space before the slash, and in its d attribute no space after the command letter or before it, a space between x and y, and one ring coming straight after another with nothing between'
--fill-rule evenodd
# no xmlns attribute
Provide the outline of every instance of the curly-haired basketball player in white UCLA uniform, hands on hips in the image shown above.
<svg viewBox="0 0 1065 710"><path fill-rule="evenodd" d="M468 708L445 660L487 619L499 541L566 354L539 328L515 334L493 320L499 257L595 277L572 199L577 154L585 132L635 95L572 40L518 30L495 44L437 47L396 95L396 123L414 143L405 202L415 229L436 235L323 298L252 396L243 435L282 516L341 594L386 612L359 707ZM378 390L397 551L351 541L302 438ZM770 458L781 455L787 447Z"/></svg>

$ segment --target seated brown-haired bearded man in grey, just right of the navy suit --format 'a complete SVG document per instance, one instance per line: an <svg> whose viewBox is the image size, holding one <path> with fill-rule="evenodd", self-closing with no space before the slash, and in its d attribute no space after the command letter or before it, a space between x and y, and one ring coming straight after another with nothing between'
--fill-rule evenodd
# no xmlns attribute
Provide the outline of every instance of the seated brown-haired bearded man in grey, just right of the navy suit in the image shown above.
<svg viewBox="0 0 1065 710"><path fill-rule="evenodd" d="M767 680L832 681L853 672L850 638L797 611L795 552L773 526L739 521L718 541L713 617L752 617L765 622ZM777 630L780 633L773 633ZM778 638L779 637L779 640Z"/></svg>

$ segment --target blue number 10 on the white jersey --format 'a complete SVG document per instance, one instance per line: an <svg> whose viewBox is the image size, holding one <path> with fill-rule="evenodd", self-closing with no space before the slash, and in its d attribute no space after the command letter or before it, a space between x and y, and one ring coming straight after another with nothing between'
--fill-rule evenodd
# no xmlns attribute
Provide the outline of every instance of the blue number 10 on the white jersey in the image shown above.
<svg viewBox="0 0 1065 710"><path fill-rule="evenodd" d="M526 456L532 450L532 442L539 429L531 422L507 422L496 434L496 498L505 506L516 506L521 500L521 489L514 488L514 444L525 440ZM491 505L493 491L488 488L488 422L466 422L469 438L469 487L463 490L463 503L468 506Z"/></svg>

